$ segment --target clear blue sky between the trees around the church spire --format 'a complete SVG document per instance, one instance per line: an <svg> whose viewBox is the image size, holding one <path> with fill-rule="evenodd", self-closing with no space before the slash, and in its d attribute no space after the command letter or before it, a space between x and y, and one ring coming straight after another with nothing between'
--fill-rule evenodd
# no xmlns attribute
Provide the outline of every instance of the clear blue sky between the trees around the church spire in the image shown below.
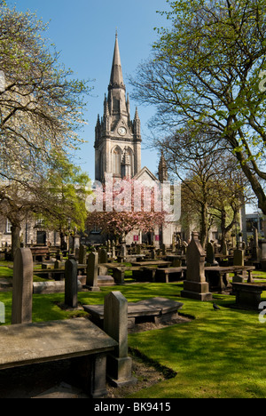
<svg viewBox="0 0 266 416"><path fill-rule="evenodd" d="M152 44L157 39L154 28L165 26L167 20L156 11L168 10L166 0L7 0L25 12L35 12L44 22L50 22L46 37L61 52L60 60L66 68L81 79L95 80L92 97L88 98L88 110L81 137L88 143L78 153L82 170L94 179L94 129L97 116L103 115L103 103L107 92L115 40L118 30L121 65L127 92L132 91L128 77L134 75L137 65L149 57ZM136 103L130 100L131 118ZM157 172L159 156L156 151L145 150L149 135L147 122L153 116L154 108L138 107L142 122L143 152L142 166Z"/></svg>

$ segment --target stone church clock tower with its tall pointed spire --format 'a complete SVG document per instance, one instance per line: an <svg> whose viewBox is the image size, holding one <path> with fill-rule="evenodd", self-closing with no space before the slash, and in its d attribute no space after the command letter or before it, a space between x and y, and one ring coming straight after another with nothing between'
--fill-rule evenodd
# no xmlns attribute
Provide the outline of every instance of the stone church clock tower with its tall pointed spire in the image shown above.
<svg viewBox="0 0 266 416"><path fill-rule="evenodd" d="M141 171L140 119L130 118L129 94L123 81L118 36L115 35L113 65L104 116L95 128L95 180L103 182L106 173L113 177L134 177Z"/></svg>

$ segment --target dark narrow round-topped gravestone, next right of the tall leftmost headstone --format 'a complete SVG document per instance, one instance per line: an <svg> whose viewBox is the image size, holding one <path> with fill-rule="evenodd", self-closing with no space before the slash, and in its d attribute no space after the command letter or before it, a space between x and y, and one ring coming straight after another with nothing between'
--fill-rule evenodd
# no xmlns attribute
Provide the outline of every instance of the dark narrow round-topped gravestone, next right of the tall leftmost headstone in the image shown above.
<svg viewBox="0 0 266 416"><path fill-rule="evenodd" d="M65 266L65 305L78 307L78 269L75 260L67 260Z"/></svg>

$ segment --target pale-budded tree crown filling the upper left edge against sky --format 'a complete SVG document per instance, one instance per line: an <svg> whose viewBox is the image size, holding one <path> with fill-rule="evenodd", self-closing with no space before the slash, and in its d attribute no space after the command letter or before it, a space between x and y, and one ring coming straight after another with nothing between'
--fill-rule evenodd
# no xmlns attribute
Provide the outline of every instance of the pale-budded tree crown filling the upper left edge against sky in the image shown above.
<svg viewBox="0 0 266 416"><path fill-rule="evenodd" d="M78 147L88 82L74 79L32 12L0 4L0 177L45 176L51 149ZM3 85L4 84L4 85Z"/></svg>

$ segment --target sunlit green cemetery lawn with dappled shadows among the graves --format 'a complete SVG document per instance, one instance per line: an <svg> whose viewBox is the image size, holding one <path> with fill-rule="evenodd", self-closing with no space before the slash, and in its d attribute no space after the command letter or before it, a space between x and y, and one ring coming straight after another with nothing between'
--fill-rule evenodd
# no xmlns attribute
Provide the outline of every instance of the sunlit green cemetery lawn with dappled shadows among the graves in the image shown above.
<svg viewBox="0 0 266 416"><path fill-rule="evenodd" d="M182 283L127 284L101 292L79 292L81 304L104 303L110 291L121 291L131 302L166 297L183 302L181 314L193 317L188 323L129 333L129 348L176 372L174 378L159 380L129 397L265 398L266 324L259 322L259 311L230 308L234 296L219 294L214 298L221 310L215 311L212 302L181 298L182 289ZM266 292L262 300L266 301ZM4 302L6 324L10 324L12 292L0 292L0 301ZM34 322L87 316L83 310L59 308L63 302L64 294L34 295Z"/></svg>

